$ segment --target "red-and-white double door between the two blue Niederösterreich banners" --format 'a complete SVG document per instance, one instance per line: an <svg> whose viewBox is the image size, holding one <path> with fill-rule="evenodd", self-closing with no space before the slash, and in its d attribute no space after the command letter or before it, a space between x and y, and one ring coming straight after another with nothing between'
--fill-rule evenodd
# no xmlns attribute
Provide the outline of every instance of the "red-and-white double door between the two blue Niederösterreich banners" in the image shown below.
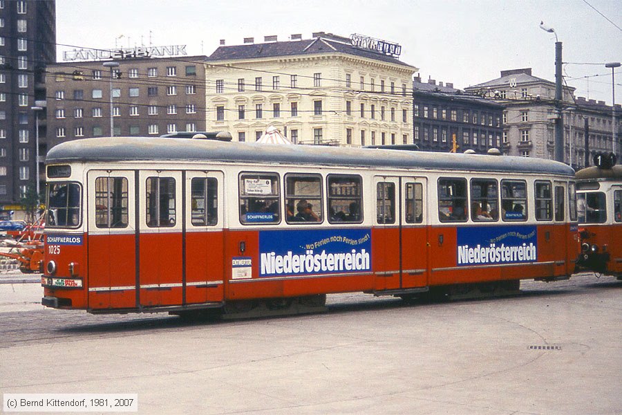
<svg viewBox="0 0 622 415"><path fill-rule="evenodd" d="M375 177L374 270L377 290L426 286L425 181Z"/></svg>

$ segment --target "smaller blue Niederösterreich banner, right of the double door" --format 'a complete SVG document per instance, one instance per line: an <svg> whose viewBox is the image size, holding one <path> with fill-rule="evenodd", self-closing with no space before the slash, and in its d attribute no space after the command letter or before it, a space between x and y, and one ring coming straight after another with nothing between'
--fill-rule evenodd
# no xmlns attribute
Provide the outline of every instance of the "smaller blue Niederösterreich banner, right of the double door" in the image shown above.
<svg viewBox="0 0 622 415"><path fill-rule="evenodd" d="M458 266L520 264L538 260L535 225L458 228Z"/></svg>

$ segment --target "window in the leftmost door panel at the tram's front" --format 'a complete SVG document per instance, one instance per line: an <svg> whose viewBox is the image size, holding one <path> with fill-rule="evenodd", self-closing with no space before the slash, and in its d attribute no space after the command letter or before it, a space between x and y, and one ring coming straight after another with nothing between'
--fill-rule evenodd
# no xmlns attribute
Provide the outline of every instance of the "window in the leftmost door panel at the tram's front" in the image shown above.
<svg viewBox="0 0 622 415"><path fill-rule="evenodd" d="M95 226L126 228L128 224L127 179L98 177L95 179Z"/></svg>

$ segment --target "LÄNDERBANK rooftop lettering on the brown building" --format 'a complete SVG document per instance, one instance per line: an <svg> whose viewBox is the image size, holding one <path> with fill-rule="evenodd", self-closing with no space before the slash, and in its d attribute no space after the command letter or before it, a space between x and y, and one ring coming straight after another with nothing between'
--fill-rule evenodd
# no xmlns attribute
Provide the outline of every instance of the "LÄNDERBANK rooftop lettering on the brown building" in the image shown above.
<svg viewBox="0 0 622 415"><path fill-rule="evenodd" d="M63 60L131 59L134 57L163 57L187 55L186 45L135 46L120 49L73 49L63 52Z"/></svg>

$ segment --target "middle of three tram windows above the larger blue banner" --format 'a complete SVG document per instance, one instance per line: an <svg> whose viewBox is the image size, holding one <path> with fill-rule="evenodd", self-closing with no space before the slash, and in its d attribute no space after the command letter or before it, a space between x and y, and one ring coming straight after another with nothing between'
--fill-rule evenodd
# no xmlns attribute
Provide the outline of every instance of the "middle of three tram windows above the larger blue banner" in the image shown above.
<svg viewBox="0 0 622 415"><path fill-rule="evenodd" d="M321 223L323 221L321 176L286 174L285 212L288 223Z"/></svg>

